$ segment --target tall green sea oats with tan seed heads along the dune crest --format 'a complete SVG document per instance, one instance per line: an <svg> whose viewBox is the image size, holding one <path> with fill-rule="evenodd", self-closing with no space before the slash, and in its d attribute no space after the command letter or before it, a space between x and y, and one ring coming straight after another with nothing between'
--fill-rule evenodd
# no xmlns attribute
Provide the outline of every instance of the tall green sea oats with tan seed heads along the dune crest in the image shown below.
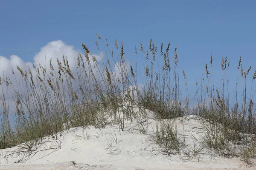
<svg viewBox="0 0 256 170"><path fill-rule="evenodd" d="M250 96L247 96L247 79L250 79L247 76L251 67L244 71L241 57L238 65L235 103L230 103L228 79L225 77L230 62L227 61L227 57L222 58L222 87L218 89L214 87L212 73L209 71L212 68L211 57L210 68L205 65L206 74L202 77L201 84L196 83L198 90L195 99L198 102L191 109L184 70L182 75L185 79L185 89L180 88L177 47L174 49L174 58L170 58L170 43L166 47L163 43L157 46L150 40L148 48L144 48L140 43L139 47L135 47L135 55L144 56L145 70L138 70L137 62L130 65L126 62L122 42L115 41L111 47L107 40L102 40L98 34L97 36L99 42L95 42L96 46L99 53L102 53L102 46L105 48L105 59L98 61L87 46L82 44L84 54L77 56L75 69L71 70L67 57L63 56L56 59L57 67L52 65L51 59L49 63L33 65L33 68L28 70L22 70L17 66L19 75L16 71L12 71L15 79L0 77L2 88L0 149L24 142L29 148L37 147L42 144L44 136L56 138L57 134L70 127L92 125L96 128L104 128L106 125L118 124L120 130L124 130L125 122L133 122L134 118L139 116L146 118L147 115L143 110L148 109L155 112L157 120L173 119L189 114L201 116L211 123L211 126L205 127L207 131L205 143L209 148L217 150L218 153L224 148L229 148L227 150L231 153L227 144L240 142L241 156L244 160L248 161L255 156L254 153L247 151L255 143L255 138L252 136L256 133L252 89ZM112 49L115 49L115 52ZM173 59L174 62L170 62ZM143 80L140 80L138 74L141 71L145 73ZM239 74L243 85L240 103L237 95L238 91L241 91L238 88ZM256 71L252 81L255 78ZM181 92L185 93L186 97L181 98ZM15 112L9 109L12 103L10 101L15 102ZM134 111L134 105L140 109L140 113ZM10 116L15 117L13 124ZM221 132L216 132L216 129ZM146 133L145 130L142 131ZM172 125L161 127L156 133L154 139L162 146L165 153L169 154L169 150L179 153L179 147L183 143L177 140L177 132ZM248 134L250 139L249 137L245 139L240 135L241 133Z"/></svg>

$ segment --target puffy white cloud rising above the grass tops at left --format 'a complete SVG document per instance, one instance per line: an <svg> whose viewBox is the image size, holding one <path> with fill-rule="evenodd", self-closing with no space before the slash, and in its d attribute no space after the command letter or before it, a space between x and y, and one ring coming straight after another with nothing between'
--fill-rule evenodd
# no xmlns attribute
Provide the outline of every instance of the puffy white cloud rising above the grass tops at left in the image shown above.
<svg viewBox="0 0 256 170"><path fill-rule="evenodd" d="M37 68L39 65L42 65L44 68L46 68L49 71L49 61L52 59L52 65L54 68L58 68L57 58L63 63L62 56L67 57L67 60L69 62L69 66L71 70L76 69L76 59L79 55L80 51L74 49L73 46L65 44L61 40L48 42L47 45L41 48L41 50L33 57L33 62L26 62L22 58L18 57L17 55L12 55L9 58L0 56L0 77L3 79L6 79L8 77L12 83L15 89L19 88L19 92L22 92L23 84L20 82L20 72L17 70L17 66L19 66L23 71L27 71L28 68L32 70L32 74L35 76L35 70L32 66L32 64L35 65ZM82 55L82 53L81 53ZM94 54L93 54L94 55ZM102 55L94 55L97 59L97 61L102 60ZM32 57L32 56L31 56ZM92 57L90 57L91 63ZM12 74L12 69L15 73L15 75ZM28 74L28 73L27 73ZM29 77L29 74L28 74ZM4 84L4 83L3 83ZM13 89L9 88L9 90L6 90L5 85L0 86L0 97L3 97L3 91L5 93L5 96L8 94L8 99L6 100L8 102L11 102L13 100ZM12 102L11 105L13 105L14 102ZM15 107L10 107L14 108ZM1 112L1 104L0 104L0 112Z"/></svg>

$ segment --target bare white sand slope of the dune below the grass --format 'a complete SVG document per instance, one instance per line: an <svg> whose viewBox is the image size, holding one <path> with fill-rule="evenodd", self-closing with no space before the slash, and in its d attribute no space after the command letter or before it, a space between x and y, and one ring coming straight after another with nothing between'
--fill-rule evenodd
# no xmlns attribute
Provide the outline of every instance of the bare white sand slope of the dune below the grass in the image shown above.
<svg viewBox="0 0 256 170"><path fill-rule="evenodd" d="M185 140L183 153L202 146L204 137L202 119L186 116L175 120L181 140ZM147 135L140 134L138 125L147 127ZM138 119L127 123L125 131L119 126L104 129L94 127L72 128L57 139L45 137L43 144L32 151L23 147L0 150L1 170L242 170L248 167L239 158L225 159L203 149L196 157L183 153L168 157L152 143L150 134L157 124L154 119ZM190 151L189 151L190 150ZM12 154L16 152L15 154ZM8 156L9 155L9 156ZM71 162L71 161L74 161Z"/></svg>

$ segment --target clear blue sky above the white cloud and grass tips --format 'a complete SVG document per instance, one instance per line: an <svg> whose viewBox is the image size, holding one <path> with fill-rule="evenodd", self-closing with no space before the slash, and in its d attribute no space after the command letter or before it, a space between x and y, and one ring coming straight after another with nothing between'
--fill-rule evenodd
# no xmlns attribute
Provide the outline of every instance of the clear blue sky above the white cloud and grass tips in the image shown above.
<svg viewBox="0 0 256 170"><path fill-rule="evenodd" d="M112 44L123 41L125 57L132 61L134 45L148 47L152 38L159 45L171 42L170 54L177 46L179 68L193 86L205 73L211 53L216 81L222 74L221 57L227 56L231 84L236 82L240 55L245 68L252 65L251 77L256 69L255 8L253 0L1 1L0 56L33 62L54 40L80 51L84 43L97 53L94 42L99 34Z"/></svg>

